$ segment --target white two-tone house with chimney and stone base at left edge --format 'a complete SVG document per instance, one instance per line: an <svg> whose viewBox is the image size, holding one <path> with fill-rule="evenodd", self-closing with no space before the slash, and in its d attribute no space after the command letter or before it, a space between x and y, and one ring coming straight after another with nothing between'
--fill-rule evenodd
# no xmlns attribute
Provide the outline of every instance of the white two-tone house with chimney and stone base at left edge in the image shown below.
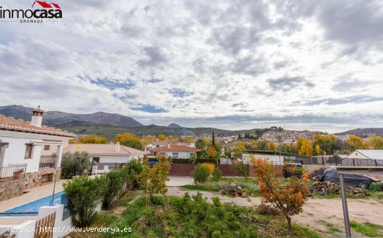
<svg viewBox="0 0 383 238"><path fill-rule="evenodd" d="M59 177L63 147L75 137L42 126L44 111L40 108L31 113L30 122L0 115L0 191L4 191L0 201L51 182L56 174Z"/></svg>

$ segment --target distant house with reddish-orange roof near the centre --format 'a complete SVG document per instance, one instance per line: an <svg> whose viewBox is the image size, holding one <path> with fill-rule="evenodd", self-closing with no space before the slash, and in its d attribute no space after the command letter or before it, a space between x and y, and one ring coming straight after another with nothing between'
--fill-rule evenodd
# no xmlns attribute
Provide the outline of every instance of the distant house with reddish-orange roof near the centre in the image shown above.
<svg viewBox="0 0 383 238"><path fill-rule="evenodd" d="M189 159L190 153L197 153L198 151L200 151L198 148L168 143L165 146L150 149L150 155L155 156L160 154L175 159Z"/></svg>

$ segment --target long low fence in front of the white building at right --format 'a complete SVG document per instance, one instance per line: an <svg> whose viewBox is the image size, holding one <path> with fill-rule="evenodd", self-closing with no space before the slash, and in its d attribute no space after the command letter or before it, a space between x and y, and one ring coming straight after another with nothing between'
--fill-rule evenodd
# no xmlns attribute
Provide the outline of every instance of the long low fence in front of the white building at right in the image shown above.
<svg viewBox="0 0 383 238"><path fill-rule="evenodd" d="M312 157L312 158L284 158L284 162L295 162L298 164L322 164L335 166L352 167L378 167L383 166L383 160L357 159L357 158L336 158L332 156Z"/></svg>

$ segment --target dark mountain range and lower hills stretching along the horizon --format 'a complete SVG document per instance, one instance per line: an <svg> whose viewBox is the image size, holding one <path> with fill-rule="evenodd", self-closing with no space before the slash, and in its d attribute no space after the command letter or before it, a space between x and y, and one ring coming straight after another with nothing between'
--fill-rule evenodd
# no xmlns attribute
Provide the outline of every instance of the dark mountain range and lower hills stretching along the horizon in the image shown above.
<svg viewBox="0 0 383 238"><path fill-rule="evenodd" d="M0 106L0 114L7 117L15 117L25 121L31 120L33 108L26 108L22 105L4 105ZM268 130L254 128L250 130L221 130L217 128L187 128L178 124L169 124L169 126L156 126L150 124L144 126L132 117L127 117L116 113L94 112L90 114L75 114L68 112L47 111L43 117L43 124L54 126L63 130L68 130L76 134L102 135L108 138L114 137L118 133L134 133L135 135L201 135L210 134L212 130L216 135L238 135L244 133L256 133L261 135ZM383 128L357 128L347 130L335 135L359 135L366 137L370 134L383 136Z"/></svg>

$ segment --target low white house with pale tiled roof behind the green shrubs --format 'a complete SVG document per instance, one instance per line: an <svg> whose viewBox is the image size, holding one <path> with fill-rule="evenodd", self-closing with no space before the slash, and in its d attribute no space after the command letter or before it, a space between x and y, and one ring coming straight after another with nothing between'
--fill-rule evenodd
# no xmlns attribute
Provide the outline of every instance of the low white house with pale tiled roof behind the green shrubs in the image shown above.
<svg viewBox="0 0 383 238"><path fill-rule="evenodd" d="M127 146L116 144L69 144L64 153L75 153L86 151L91 156L91 161L97 162L97 169L103 170L105 166L109 169L123 167L124 164L133 159L144 158L148 153Z"/></svg>

